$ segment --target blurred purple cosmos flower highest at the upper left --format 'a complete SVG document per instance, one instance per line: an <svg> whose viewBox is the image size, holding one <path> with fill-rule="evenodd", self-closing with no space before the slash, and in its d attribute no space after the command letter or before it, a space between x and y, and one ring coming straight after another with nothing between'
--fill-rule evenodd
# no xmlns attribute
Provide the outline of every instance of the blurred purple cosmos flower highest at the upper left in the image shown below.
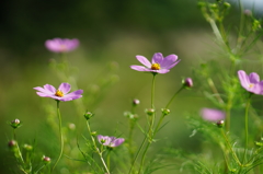
<svg viewBox="0 0 263 174"><path fill-rule="evenodd" d="M79 39L54 38L46 40L45 46L50 51L68 53L76 49L79 46Z"/></svg>

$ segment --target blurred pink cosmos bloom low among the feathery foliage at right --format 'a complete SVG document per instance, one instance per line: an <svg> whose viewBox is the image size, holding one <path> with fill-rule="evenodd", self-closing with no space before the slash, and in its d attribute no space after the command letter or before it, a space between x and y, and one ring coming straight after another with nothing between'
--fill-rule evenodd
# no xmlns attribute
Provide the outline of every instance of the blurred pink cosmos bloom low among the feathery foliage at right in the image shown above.
<svg viewBox="0 0 263 174"><path fill-rule="evenodd" d="M201 115L205 120L213 121L213 123L222 120L226 117L225 112L221 112L219 109L213 109L213 108L203 108L201 111Z"/></svg>

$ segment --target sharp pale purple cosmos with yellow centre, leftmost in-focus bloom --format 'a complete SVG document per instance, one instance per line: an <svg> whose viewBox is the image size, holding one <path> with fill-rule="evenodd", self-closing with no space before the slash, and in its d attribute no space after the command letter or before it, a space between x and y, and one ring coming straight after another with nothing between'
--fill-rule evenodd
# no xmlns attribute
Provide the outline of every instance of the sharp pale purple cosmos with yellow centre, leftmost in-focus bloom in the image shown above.
<svg viewBox="0 0 263 174"><path fill-rule="evenodd" d="M70 84L69 83L61 83L56 90L53 85L50 84L45 84L44 88L36 86L34 90L37 90L38 92L37 95L42 97L52 97L54 100L58 101L72 101L77 100L79 97L82 97L83 90L77 90L75 92L68 93L70 91Z"/></svg>

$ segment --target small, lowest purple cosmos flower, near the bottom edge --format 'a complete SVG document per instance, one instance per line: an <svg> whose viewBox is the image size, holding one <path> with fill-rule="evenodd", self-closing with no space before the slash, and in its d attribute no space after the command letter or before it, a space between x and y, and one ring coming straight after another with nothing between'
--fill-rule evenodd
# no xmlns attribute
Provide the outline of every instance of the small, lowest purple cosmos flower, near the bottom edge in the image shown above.
<svg viewBox="0 0 263 174"><path fill-rule="evenodd" d="M118 147L124 142L124 138L108 137L108 136L98 136L98 140L101 144L110 148Z"/></svg>

